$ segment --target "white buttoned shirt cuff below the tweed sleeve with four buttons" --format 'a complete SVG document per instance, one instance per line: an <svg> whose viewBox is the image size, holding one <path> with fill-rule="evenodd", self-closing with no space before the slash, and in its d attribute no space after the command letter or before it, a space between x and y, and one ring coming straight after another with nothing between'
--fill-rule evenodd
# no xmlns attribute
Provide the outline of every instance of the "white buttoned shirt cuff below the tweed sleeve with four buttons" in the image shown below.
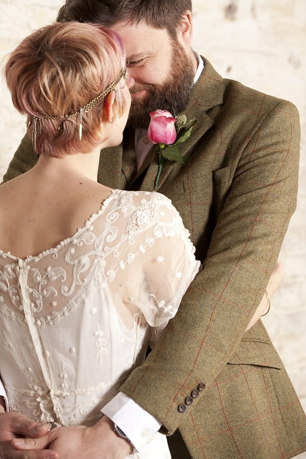
<svg viewBox="0 0 306 459"><path fill-rule="evenodd" d="M162 425L123 392L119 392L101 412L120 427L138 452L152 441Z"/></svg>

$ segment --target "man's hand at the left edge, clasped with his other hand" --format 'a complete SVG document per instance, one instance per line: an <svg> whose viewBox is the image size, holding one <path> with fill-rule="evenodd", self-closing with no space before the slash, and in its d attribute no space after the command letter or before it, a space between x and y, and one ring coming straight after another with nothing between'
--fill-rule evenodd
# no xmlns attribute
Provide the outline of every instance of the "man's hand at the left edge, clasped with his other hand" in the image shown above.
<svg viewBox="0 0 306 459"><path fill-rule="evenodd" d="M58 459L55 451L33 449L18 451L12 445L14 438L31 437L38 439L46 435L49 427L46 424L34 422L16 413L4 413L0 410L0 458L1 459Z"/></svg>

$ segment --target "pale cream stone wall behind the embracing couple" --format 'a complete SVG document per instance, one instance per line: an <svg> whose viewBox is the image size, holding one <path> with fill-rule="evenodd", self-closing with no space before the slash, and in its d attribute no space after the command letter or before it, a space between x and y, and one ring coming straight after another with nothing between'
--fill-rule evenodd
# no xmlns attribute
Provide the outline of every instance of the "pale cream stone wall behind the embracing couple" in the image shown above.
<svg viewBox="0 0 306 459"><path fill-rule="evenodd" d="M0 0L0 56L53 21L62 0ZM291 100L301 117L298 206L282 248L285 280L264 318L306 410L306 0L193 0L194 48L226 78ZM0 84L0 177L24 120ZM299 458L306 457L301 454Z"/></svg>

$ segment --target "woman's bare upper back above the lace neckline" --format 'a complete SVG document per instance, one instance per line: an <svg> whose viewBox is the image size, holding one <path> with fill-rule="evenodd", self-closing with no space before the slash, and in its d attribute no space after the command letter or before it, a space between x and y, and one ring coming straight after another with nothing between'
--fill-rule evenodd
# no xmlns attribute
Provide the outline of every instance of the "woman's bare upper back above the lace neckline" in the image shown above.
<svg viewBox="0 0 306 459"><path fill-rule="evenodd" d="M36 167L36 166L35 166ZM0 186L0 250L37 255L72 236L110 189L87 177L35 168Z"/></svg>

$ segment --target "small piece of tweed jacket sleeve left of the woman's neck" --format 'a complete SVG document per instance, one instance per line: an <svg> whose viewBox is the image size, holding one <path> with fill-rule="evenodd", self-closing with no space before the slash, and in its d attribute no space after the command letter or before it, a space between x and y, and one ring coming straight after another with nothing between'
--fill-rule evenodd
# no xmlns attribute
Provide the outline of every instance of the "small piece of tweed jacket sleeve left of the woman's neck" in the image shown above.
<svg viewBox="0 0 306 459"><path fill-rule="evenodd" d="M23 172L31 169L37 163L38 156L35 154L31 138L25 134L15 155L10 162L9 168L3 176L3 182L14 179Z"/></svg>

